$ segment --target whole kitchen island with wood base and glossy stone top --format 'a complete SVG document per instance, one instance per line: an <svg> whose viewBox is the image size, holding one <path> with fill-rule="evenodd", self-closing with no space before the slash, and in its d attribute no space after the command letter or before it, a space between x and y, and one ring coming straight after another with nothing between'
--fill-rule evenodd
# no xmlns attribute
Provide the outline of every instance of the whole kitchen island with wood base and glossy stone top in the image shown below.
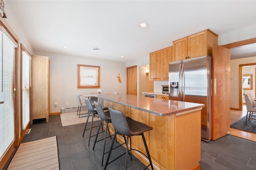
<svg viewBox="0 0 256 170"><path fill-rule="evenodd" d="M162 100L126 94L99 95L104 106L122 111L125 116L151 126L144 133L155 169L199 170L201 158L201 109L204 104ZM110 124L110 131L114 128ZM118 138L123 142L123 138ZM132 147L145 152L139 136L132 137ZM144 164L139 152L133 154Z"/></svg>

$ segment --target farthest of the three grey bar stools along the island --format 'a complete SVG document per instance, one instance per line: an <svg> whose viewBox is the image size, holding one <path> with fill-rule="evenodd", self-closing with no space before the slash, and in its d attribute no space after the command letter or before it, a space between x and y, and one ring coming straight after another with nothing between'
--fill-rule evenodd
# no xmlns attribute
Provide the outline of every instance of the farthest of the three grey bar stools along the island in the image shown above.
<svg viewBox="0 0 256 170"><path fill-rule="evenodd" d="M95 106L94 106L94 107L92 106L92 103L91 103L91 101L90 101L89 98L84 98L84 101L85 101L86 107L87 107L87 109L88 109L88 117L87 117L87 120L86 120L86 123L85 123L85 126L84 126L84 132L85 132L86 130L90 130L89 142L88 142L88 146L89 146L89 145L90 145L90 139L91 139L91 137L96 136L96 134L91 136L91 133L92 133L92 128L97 127L97 126L92 127L93 118L94 118L95 115L97 114L97 110L96 110ZM108 110L108 108L104 107L103 110ZM88 120L89 120L89 117L90 117L91 114L92 114L91 126L90 126L89 129L86 129L86 126L87 126L87 124L88 124ZM103 128L102 128L102 131L103 131ZM83 133L83 137L84 137L84 133Z"/></svg>

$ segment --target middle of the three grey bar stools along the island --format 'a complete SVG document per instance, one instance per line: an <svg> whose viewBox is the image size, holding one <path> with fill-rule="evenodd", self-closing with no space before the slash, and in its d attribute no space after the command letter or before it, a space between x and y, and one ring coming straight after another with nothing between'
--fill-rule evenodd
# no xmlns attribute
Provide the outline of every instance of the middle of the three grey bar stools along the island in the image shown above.
<svg viewBox="0 0 256 170"><path fill-rule="evenodd" d="M98 102L94 101L94 106L96 107L96 110L98 112L98 116L100 117L100 124L98 126L98 130L97 130L97 134L96 134L96 138L94 140L94 145L93 145L92 150L94 150L96 142L104 140L103 154L102 154L102 160L101 160L101 166L103 166L104 154L108 153L108 152L105 153L106 138L110 137L110 139L111 139L110 131L109 131L109 128L108 128L108 123L111 123L111 117L110 117L109 110L104 112L102 106ZM106 130L104 130L104 131L102 130L102 132L100 132L100 126L102 125L102 121L106 122ZM108 130L108 134L109 134L108 137L106 137L107 136L107 130ZM103 133L103 132L105 132L104 138L97 141L98 134Z"/></svg>

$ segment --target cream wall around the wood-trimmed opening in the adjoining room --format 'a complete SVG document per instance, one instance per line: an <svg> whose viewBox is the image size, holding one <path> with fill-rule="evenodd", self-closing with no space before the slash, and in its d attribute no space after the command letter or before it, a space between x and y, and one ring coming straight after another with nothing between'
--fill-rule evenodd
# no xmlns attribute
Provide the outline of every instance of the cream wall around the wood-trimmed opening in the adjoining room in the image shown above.
<svg viewBox="0 0 256 170"><path fill-rule="evenodd" d="M239 109L239 64L255 63L255 57L240 58L230 61L230 77L236 80L230 80L230 108ZM255 71L254 71L255 73ZM255 75L254 75L255 78ZM254 86L255 89L255 86ZM255 93L254 93L255 94Z"/></svg>

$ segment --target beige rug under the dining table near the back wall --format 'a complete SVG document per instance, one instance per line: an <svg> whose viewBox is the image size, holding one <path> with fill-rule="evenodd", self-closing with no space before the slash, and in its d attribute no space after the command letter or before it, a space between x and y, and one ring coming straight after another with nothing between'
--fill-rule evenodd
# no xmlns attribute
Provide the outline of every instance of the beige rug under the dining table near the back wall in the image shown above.
<svg viewBox="0 0 256 170"><path fill-rule="evenodd" d="M86 116L86 117L81 117L81 116ZM62 126L69 126L73 124L80 124L80 123L85 123L87 120L87 114L83 114L79 116L77 115L77 112L71 112L71 113L62 113L60 114L61 118L61 123ZM100 120L98 117L94 117L93 121ZM92 121L92 116L89 117L88 122Z"/></svg>

